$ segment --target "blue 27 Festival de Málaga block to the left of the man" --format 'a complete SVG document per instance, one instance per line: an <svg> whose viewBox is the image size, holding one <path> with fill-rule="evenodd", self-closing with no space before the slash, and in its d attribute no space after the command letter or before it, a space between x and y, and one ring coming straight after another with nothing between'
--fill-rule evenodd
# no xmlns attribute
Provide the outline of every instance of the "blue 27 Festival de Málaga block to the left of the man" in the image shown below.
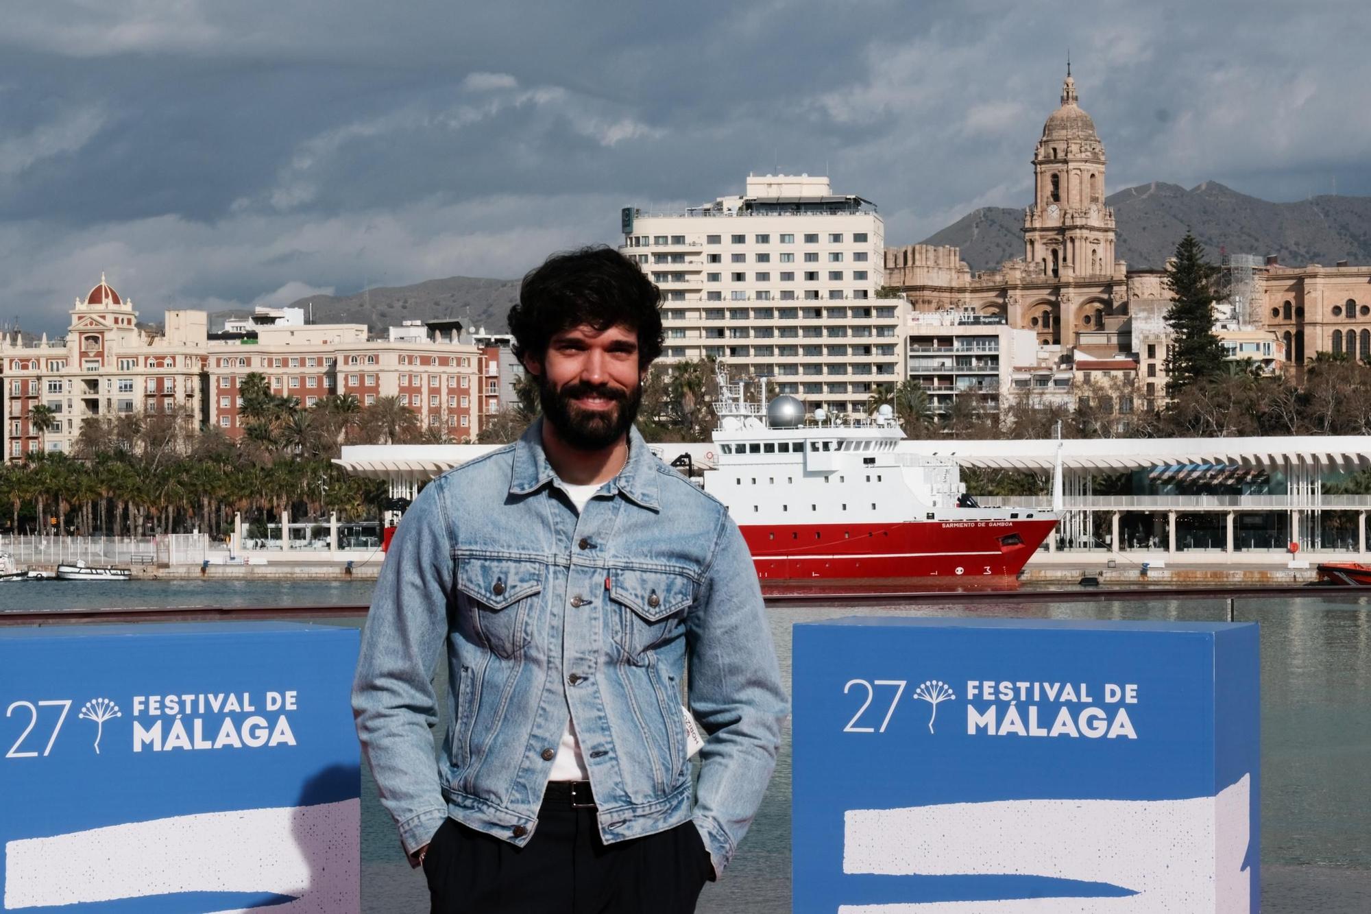
<svg viewBox="0 0 1371 914"><path fill-rule="evenodd" d="M0 910L358 911L355 629L0 629Z"/></svg>

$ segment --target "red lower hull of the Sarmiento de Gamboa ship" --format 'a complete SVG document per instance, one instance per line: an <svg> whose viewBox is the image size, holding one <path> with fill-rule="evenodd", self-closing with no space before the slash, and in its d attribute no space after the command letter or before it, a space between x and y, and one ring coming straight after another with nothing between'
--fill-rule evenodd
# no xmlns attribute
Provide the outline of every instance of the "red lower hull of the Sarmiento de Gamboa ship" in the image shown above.
<svg viewBox="0 0 1371 914"><path fill-rule="evenodd" d="M1001 585L1017 578L1056 520L740 526L757 576L784 582L927 579ZM1017 535L1019 542L1013 542ZM1005 538L1010 538L1006 545Z"/></svg>

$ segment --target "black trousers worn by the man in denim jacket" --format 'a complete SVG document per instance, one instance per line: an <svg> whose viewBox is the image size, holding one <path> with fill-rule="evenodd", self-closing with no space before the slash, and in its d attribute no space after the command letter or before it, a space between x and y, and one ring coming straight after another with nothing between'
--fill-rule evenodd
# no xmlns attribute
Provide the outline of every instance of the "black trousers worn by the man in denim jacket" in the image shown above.
<svg viewBox="0 0 1371 914"><path fill-rule="evenodd" d="M433 914L691 914L713 865L691 822L605 844L594 808L544 799L524 847L447 819L424 876Z"/></svg>

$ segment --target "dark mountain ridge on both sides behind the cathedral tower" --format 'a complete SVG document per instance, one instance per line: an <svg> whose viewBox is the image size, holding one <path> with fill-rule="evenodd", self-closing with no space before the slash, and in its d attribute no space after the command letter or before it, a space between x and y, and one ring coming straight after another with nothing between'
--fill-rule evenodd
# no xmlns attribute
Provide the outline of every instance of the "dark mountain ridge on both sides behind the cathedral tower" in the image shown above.
<svg viewBox="0 0 1371 914"><path fill-rule="evenodd" d="M1115 253L1130 269L1160 269L1186 231L1209 259L1230 254L1275 254L1281 263L1304 266L1337 261L1371 263L1371 196L1315 196L1271 203L1217 181L1191 189L1154 181L1105 198L1117 225ZM1023 257L1023 210L987 206L973 210L923 244L953 244L973 270Z"/></svg>

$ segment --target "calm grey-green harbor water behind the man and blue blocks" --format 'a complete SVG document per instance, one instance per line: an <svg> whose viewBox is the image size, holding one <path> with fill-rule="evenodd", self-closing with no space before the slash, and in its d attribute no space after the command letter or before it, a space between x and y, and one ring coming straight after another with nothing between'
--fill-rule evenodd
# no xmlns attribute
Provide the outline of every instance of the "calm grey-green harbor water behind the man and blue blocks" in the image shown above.
<svg viewBox="0 0 1371 914"><path fill-rule="evenodd" d="M365 605L370 582L19 582L7 609ZM791 626L849 615L1223 620L1226 600L1002 602L773 608L790 677ZM1328 591L1239 597L1234 618L1261 624L1261 860L1270 914L1371 911L1371 600ZM361 626L362 618L324 624ZM436 671L446 692L443 666ZM701 911L790 911L790 741L733 865L705 888ZM424 877L404 862L363 769L362 896L366 911L426 910Z"/></svg>

